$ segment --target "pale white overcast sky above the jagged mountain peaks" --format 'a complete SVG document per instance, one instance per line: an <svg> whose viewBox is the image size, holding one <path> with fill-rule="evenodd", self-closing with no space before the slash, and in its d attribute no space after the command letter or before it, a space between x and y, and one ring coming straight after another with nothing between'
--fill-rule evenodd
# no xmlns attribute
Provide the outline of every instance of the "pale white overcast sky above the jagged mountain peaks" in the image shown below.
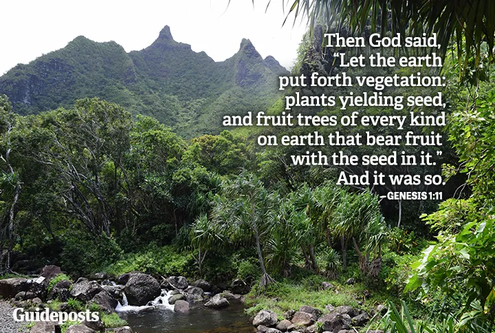
<svg viewBox="0 0 495 333"><path fill-rule="evenodd" d="M132 2L132 3L131 3ZM305 23L293 27L282 1L267 0L15 0L2 3L0 75L65 47L76 36L115 41L129 52L151 45L165 25L175 41L223 61L250 39L260 54L292 67Z"/></svg>

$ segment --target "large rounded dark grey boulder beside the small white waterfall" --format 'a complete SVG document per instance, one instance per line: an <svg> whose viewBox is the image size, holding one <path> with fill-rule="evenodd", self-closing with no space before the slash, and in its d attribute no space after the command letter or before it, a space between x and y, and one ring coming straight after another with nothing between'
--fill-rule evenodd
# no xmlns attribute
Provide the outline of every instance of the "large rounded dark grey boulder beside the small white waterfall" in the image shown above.
<svg viewBox="0 0 495 333"><path fill-rule="evenodd" d="M158 281L151 275L131 275L124 288L129 305L146 305L162 293Z"/></svg>

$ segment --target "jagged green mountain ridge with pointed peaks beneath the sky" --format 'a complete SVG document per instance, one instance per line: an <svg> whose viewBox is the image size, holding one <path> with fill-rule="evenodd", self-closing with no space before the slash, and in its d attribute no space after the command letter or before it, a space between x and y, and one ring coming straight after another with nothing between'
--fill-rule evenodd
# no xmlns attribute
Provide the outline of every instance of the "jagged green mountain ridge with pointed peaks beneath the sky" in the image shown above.
<svg viewBox="0 0 495 333"><path fill-rule="evenodd" d="M191 137L219 132L225 114L270 107L280 96L281 74L287 70L272 56L263 59L247 39L232 58L217 63L175 41L166 26L153 44L129 53L113 41L78 36L61 50L10 69L0 77L0 94L20 114L98 96Z"/></svg>

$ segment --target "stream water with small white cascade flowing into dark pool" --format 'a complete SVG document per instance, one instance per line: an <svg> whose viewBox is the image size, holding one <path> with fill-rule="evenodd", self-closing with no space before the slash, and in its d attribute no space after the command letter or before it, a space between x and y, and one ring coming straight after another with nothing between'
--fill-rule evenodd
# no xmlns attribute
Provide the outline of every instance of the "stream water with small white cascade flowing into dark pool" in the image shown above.
<svg viewBox="0 0 495 333"><path fill-rule="evenodd" d="M146 306L128 305L124 299L115 309L136 333L253 333L256 332L244 313L244 305L230 301L221 310L192 303L188 313L174 312L165 290Z"/></svg>

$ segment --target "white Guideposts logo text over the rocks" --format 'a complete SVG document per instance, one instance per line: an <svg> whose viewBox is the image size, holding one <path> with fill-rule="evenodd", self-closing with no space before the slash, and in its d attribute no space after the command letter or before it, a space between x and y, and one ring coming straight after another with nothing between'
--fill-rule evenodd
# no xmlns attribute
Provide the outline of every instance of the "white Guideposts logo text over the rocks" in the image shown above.
<svg viewBox="0 0 495 333"><path fill-rule="evenodd" d="M50 309L46 308L40 311L40 308L36 308L36 311L24 311L23 308L15 308L12 312L14 321L31 321L31 322L52 322L62 325L66 321L99 321L100 316L98 312L90 312L86 310L85 312L50 312Z"/></svg>

